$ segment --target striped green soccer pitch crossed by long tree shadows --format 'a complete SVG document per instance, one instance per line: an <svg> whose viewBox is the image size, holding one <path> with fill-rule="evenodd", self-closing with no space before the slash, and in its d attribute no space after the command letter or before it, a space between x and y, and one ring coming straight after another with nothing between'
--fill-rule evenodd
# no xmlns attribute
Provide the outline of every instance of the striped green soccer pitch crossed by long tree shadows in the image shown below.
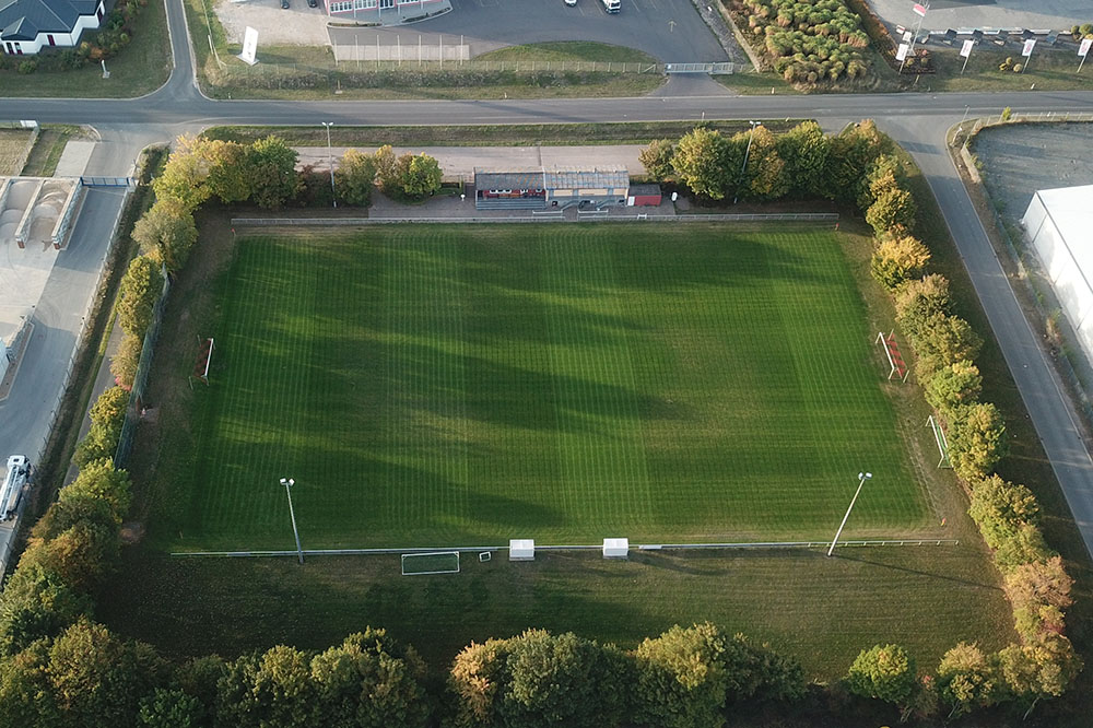
<svg viewBox="0 0 1093 728"><path fill-rule="evenodd" d="M830 538L929 518L837 233L240 239L183 549Z"/></svg>

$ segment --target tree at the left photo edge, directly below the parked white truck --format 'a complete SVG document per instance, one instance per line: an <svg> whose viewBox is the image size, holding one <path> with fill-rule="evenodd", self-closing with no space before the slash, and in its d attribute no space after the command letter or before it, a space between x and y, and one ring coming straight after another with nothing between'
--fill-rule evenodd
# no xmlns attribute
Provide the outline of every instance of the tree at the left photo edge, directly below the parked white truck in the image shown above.
<svg viewBox="0 0 1093 728"><path fill-rule="evenodd" d="M86 595L42 564L16 568L0 595L0 654L7 658L36 639L57 636L89 615L91 607Z"/></svg>

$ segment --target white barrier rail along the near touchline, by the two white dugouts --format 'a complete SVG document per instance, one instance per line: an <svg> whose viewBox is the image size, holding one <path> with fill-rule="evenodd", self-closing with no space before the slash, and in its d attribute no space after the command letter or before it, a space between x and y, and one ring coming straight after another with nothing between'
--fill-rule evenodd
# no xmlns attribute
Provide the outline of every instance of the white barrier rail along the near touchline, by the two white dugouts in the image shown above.
<svg viewBox="0 0 1093 728"><path fill-rule="evenodd" d="M631 551L687 551L712 549L826 549L831 541L749 541L740 543L640 543ZM941 547L960 545L959 539L866 539L858 541L839 541L839 547ZM602 543L573 545L540 545L536 551L600 551ZM304 549L305 556L359 556L383 555L396 553L431 553L437 551L458 551L460 553L480 553L483 551L508 551L505 545L479 547L409 547L404 549ZM293 556L295 550L287 551L175 551L172 556L179 557L220 557L220 559L256 559L267 556Z"/></svg>

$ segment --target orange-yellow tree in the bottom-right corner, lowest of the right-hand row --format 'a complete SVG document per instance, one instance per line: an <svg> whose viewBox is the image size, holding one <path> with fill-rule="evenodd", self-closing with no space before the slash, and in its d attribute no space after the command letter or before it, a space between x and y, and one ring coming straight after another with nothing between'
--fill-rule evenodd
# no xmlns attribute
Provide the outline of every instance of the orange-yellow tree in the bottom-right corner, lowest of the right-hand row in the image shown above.
<svg viewBox="0 0 1093 728"><path fill-rule="evenodd" d="M998 653L1006 688L1027 705L1025 717L1045 697L1058 697L1081 670L1081 658L1070 641L1049 635L1024 645L1010 645Z"/></svg>

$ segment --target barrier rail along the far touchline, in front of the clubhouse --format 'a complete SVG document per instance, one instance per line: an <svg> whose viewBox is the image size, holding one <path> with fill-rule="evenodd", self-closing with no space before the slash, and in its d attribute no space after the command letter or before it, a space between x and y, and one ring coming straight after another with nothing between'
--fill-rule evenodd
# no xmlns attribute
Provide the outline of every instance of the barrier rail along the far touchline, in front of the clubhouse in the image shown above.
<svg viewBox="0 0 1093 728"><path fill-rule="evenodd" d="M362 225L403 225L420 223L437 224L506 224L506 223L561 223L561 222L838 222L837 212L778 212L772 214L684 214L684 215L600 215L580 218L577 221L556 216L491 216L491 218L232 218L233 226L252 227L357 227Z"/></svg>

